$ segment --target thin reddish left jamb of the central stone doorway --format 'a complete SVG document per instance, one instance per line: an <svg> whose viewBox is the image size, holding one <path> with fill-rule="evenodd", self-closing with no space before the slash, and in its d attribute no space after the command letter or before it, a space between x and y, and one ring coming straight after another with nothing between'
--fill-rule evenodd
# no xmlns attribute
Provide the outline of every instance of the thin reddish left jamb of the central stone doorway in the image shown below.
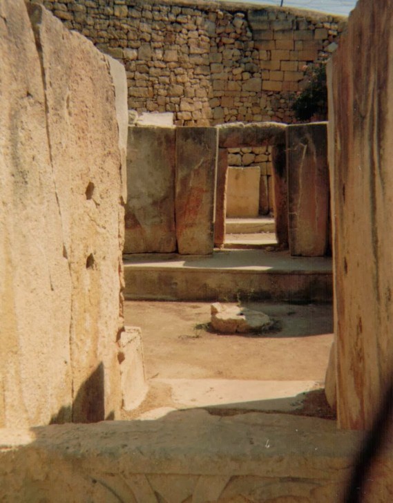
<svg viewBox="0 0 393 503"><path fill-rule="evenodd" d="M215 187L214 245L222 247L225 241L227 216L228 150L218 149L217 184Z"/></svg>

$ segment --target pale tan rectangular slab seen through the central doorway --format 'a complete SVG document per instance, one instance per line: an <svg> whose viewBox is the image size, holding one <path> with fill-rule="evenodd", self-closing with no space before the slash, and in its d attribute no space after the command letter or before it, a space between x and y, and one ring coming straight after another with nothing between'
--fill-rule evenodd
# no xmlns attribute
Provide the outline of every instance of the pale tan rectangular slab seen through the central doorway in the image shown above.
<svg viewBox="0 0 393 503"><path fill-rule="evenodd" d="M227 216L252 218L259 211L260 167L229 167Z"/></svg>

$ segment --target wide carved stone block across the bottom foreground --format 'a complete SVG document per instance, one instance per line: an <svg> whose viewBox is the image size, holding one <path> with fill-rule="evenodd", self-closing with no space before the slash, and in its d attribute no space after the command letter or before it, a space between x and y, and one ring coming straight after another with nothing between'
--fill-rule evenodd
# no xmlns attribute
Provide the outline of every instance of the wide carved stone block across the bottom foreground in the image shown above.
<svg viewBox="0 0 393 503"><path fill-rule="evenodd" d="M10 503L315 503L341 498L362 435L326 419L194 409L153 421L0 430L0 438L0 498ZM388 449L365 502L390 501L392 468Z"/></svg>

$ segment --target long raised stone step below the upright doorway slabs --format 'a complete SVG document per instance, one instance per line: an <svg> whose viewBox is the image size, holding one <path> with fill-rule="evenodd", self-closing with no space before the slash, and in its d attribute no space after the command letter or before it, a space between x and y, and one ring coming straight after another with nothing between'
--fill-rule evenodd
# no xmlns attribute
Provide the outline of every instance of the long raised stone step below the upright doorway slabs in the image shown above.
<svg viewBox="0 0 393 503"><path fill-rule="evenodd" d="M125 255L124 278L128 300L332 301L332 259L291 257L287 251Z"/></svg>

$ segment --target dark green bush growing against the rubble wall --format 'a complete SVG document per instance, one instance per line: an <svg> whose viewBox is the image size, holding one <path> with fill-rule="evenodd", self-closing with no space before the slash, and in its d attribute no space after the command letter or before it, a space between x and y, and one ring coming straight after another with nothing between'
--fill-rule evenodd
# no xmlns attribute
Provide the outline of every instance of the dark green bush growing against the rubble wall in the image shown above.
<svg viewBox="0 0 393 503"><path fill-rule="evenodd" d="M326 120L326 64L316 63L307 66L305 75L308 84L292 104L295 117L300 121L310 120L312 117L316 117L318 120Z"/></svg>

